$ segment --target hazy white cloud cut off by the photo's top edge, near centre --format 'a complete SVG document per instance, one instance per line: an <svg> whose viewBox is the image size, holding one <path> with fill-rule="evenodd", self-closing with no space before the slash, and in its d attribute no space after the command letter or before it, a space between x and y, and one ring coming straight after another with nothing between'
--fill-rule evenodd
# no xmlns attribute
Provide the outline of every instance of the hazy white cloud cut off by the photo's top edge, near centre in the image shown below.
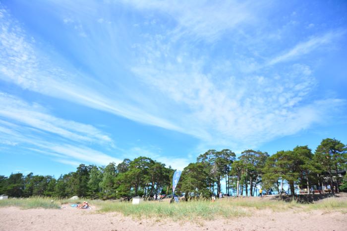
<svg viewBox="0 0 347 231"><path fill-rule="evenodd" d="M153 10L170 15L178 23L171 35L193 36L215 42L225 32L237 29L240 24L256 20L256 11L264 4L254 1L161 1L123 0L141 10Z"/></svg>

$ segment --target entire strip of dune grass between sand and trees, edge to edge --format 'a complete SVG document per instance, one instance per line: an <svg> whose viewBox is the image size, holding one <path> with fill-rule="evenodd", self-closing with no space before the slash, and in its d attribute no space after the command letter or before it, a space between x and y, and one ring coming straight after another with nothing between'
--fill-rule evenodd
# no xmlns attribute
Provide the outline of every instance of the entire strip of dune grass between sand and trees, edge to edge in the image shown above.
<svg viewBox="0 0 347 231"><path fill-rule="evenodd" d="M86 199L78 200L59 199L50 197L31 197L0 200L0 207L16 206L23 209L45 208L58 209L62 204L79 204ZM89 200L92 208L97 208L97 212L118 212L124 216L136 218L171 218L173 220L194 220L202 218L211 220L215 218L234 218L251 216L254 210L271 209L275 212L298 209L297 211L324 210L341 211L347 213L347 199L327 198L312 204L299 204L296 201L285 202L270 200L265 198L230 198L217 200L215 202L206 200L193 200L189 202L179 202L169 204L169 201L145 201L139 205L132 205L130 202Z"/></svg>

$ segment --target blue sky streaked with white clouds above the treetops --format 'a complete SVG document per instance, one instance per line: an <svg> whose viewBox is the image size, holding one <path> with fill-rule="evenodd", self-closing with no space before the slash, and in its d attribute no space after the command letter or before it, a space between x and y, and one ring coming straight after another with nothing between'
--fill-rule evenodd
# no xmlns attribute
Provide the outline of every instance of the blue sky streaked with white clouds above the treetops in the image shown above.
<svg viewBox="0 0 347 231"><path fill-rule="evenodd" d="M347 143L347 2L0 1L0 174Z"/></svg>

